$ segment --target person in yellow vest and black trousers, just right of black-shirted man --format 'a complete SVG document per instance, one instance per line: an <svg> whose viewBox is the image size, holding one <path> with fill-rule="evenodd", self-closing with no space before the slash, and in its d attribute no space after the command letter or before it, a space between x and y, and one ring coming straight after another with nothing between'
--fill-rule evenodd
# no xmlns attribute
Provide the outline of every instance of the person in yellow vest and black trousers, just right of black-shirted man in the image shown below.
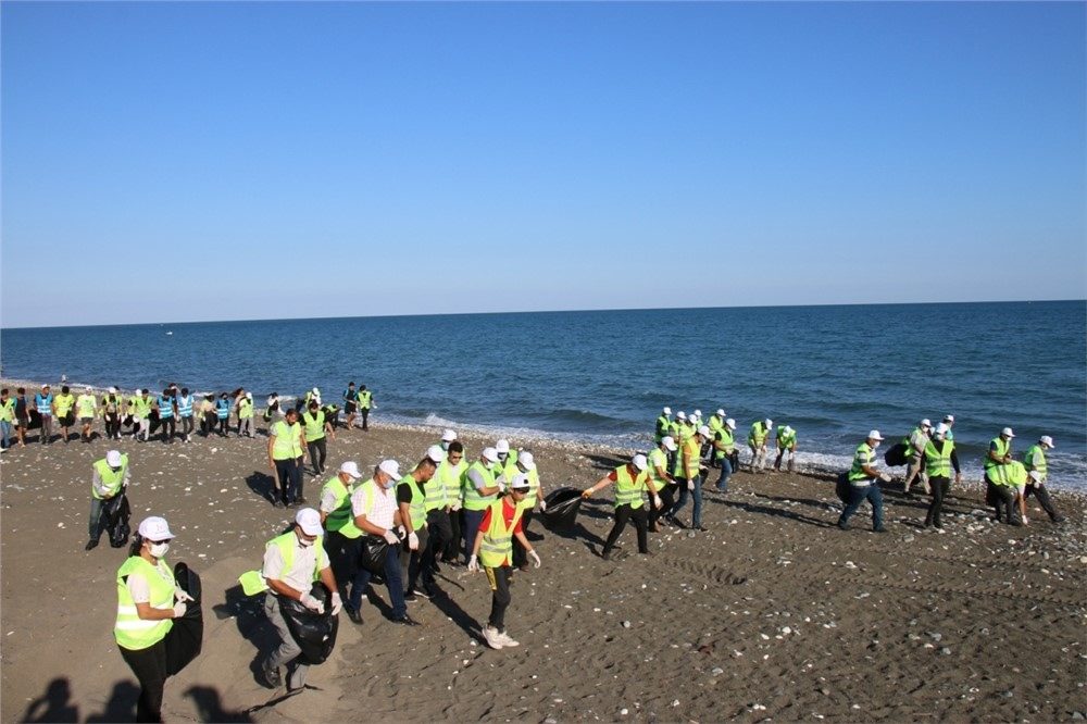
<svg viewBox="0 0 1087 724"><path fill-rule="evenodd" d="M434 480L426 486L426 527L429 532L423 565L438 573L439 561L455 563L461 544L462 486L464 471L464 445L457 439L457 433L446 430L440 447L446 459L438 465ZM447 441L448 434L452 438Z"/></svg>

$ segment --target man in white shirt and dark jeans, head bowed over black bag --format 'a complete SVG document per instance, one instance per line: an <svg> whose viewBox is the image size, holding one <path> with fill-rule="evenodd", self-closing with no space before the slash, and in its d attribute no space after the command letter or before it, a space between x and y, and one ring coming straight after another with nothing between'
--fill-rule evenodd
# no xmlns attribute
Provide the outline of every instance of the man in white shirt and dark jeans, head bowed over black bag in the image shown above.
<svg viewBox="0 0 1087 724"><path fill-rule="evenodd" d="M395 460L383 460L374 471L374 477L366 480L351 494L351 513L354 525L367 536L385 538L389 545L385 557L385 587L389 590L389 602L392 606L392 622L408 626L416 625L414 619L408 615L408 604L404 602L403 579L400 577L400 559L397 557L397 546L400 538L393 528L403 524L400 509L397 507L397 494L392 489L400 479L400 464ZM370 583L371 572L362 565L351 582L351 595L348 597L348 616L355 624L362 624L362 594Z"/></svg>

